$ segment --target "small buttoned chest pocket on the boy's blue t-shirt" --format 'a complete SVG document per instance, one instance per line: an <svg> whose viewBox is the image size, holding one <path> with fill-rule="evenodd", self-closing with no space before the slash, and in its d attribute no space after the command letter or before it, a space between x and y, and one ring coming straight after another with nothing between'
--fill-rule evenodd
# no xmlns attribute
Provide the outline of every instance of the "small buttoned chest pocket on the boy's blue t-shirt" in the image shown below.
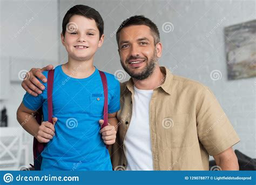
<svg viewBox="0 0 256 185"><path fill-rule="evenodd" d="M91 93L90 97L90 112L92 114L103 114L104 94Z"/></svg>

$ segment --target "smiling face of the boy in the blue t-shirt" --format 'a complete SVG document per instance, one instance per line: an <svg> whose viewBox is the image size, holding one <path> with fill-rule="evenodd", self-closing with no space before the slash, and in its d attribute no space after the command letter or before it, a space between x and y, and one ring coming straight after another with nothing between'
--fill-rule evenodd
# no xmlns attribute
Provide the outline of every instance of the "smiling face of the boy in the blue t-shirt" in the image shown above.
<svg viewBox="0 0 256 185"><path fill-rule="evenodd" d="M62 44L73 60L86 61L93 58L102 46L104 35L99 38L99 30L94 19L75 15L66 26L65 37L61 33Z"/></svg>

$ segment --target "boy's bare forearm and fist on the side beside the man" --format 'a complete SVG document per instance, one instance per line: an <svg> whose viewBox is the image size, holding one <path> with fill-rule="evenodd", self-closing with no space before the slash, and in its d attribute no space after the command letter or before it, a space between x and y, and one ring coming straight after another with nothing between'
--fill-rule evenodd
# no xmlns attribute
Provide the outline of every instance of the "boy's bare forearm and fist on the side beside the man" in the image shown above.
<svg viewBox="0 0 256 185"><path fill-rule="evenodd" d="M104 120L99 120L99 124L102 125ZM117 112L109 114L109 124L100 130L102 139L106 145L112 145L116 142L117 134Z"/></svg>

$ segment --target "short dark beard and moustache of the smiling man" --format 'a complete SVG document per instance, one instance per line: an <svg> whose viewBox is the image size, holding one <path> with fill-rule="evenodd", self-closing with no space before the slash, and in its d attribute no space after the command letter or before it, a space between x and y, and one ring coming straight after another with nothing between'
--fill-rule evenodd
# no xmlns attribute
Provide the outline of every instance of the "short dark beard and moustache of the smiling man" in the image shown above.
<svg viewBox="0 0 256 185"><path fill-rule="evenodd" d="M130 59L138 59L136 57L130 57L129 59L127 59L125 61L125 63L128 63L128 61ZM134 73L132 71L129 71L129 68L125 66L125 64L122 63L121 61L121 65L122 67L124 68L124 70L126 71L126 73L128 73L132 78L134 79L137 79L137 80L144 80L146 78L149 78L153 71L154 71L154 68L156 68L156 64L157 64L157 53L155 52L154 55L150 58L149 60L149 64L147 64L142 72L139 72L139 73Z"/></svg>

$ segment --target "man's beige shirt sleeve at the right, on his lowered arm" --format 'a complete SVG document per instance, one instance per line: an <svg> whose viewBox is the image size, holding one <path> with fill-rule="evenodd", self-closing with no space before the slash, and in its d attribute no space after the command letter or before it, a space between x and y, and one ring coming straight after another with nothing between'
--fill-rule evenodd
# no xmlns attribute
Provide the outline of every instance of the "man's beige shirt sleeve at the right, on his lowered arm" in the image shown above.
<svg viewBox="0 0 256 185"><path fill-rule="evenodd" d="M205 87L197 105L199 141L208 154L217 155L240 141L212 91Z"/></svg>

